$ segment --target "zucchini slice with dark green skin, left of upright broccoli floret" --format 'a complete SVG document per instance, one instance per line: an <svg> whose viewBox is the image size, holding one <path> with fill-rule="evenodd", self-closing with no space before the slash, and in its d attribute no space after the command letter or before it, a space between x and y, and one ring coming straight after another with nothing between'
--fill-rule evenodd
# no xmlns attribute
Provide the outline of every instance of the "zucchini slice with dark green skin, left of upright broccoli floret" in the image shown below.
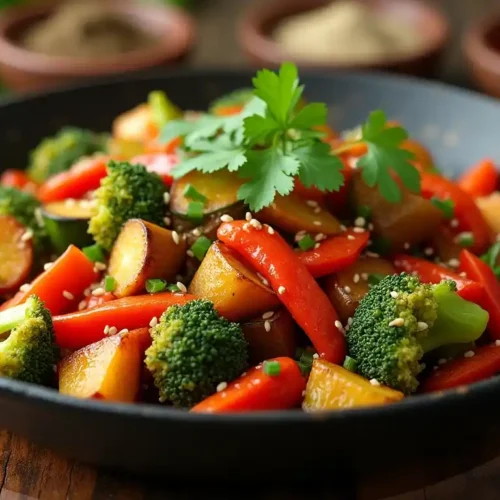
<svg viewBox="0 0 500 500"><path fill-rule="evenodd" d="M87 232L92 210L89 200L64 200L44 205L45 228L57 252L64 252L69 245L83 248L92 244L92 236Z"/></svg>

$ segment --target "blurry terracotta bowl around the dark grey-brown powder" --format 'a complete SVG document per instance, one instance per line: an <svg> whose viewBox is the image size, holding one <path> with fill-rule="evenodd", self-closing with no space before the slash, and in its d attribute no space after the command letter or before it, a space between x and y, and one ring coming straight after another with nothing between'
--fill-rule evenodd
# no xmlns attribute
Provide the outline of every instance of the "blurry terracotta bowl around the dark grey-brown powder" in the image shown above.
<svg viewBox="0 0 500 500"><path fill-rule="evenodd" d="M57 8L57 3L7 9L0 16L0 78L5 85L26 92L75 80L152 69L178 62L194 44L194 21L180 9L127 0L102 2L155 36L156 43L145 49L99 59L38 54L24 49L18 40L26 29L48 17Z"/></svg>

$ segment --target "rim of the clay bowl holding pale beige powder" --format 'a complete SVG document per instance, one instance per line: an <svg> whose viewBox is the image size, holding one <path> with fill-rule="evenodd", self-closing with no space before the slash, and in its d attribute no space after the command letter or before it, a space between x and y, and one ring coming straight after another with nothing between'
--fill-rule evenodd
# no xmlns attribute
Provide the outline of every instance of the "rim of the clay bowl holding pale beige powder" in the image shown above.
<svg viewBox="0 0 500 500"><path fill-rule="evenodd" d="M279 21L288 17L285 10L291 11L298 6L305 6L304 11L310 11L321 6L323 0L310 2L312 8L307 8L307 0L260 0L254 2L240 17L238 22L238 41L240 46L252 57L268 60L272 64L279 64L282 60L292 60L303 67L311 68L333 68L333 69L384 69L387 66L400 66L410 62L428 57L439 52L450 39L450 23L443 10L427 0L383 0L385 3L408 4L420 11L432 15L440 25L440 33L436 36L426 36L425 44L419 49L406 56L384 57L373 61L336 61L332 58L329 61L312 61L307 58L300 58L287 54L272 37L263 33L263 25L272 18Z"/></svg>

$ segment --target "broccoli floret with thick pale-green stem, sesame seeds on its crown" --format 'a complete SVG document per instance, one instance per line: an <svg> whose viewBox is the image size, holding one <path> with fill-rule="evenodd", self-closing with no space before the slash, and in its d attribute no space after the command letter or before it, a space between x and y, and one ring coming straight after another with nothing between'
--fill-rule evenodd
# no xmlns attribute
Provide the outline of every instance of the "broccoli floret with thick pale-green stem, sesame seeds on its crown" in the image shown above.
<svg viewBox="0 0 500 500"><path fill-rule="evenodd" d="M488 313L456 293L455 282L420 283L405 273L387 276L361 300L346 333L358 373L410 394L426 352L477 340Z"/></svg>

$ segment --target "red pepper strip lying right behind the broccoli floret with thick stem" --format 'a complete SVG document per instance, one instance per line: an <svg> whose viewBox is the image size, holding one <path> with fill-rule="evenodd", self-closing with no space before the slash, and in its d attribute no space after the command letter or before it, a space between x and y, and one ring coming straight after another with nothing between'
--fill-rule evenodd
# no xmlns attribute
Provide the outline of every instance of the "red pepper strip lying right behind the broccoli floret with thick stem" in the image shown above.
<svg viewBox="0 0 500 500"><path fill-rule="evenodd" d="M463 278L443 266L411 255L394 256L394 267L398 272L416 274L424 283L440 283L442 280L453 280L457 284L457 293L465 300L480 304L484 296L481 283Z"/></svg>

